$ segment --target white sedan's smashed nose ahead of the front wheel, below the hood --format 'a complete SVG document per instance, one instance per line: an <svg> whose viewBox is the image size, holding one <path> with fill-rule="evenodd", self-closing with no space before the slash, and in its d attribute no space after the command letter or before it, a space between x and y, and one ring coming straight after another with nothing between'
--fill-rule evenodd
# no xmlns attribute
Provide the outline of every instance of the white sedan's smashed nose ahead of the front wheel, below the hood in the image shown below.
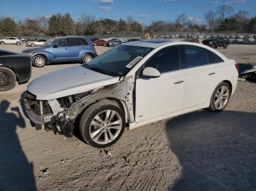
<svg viewBox="0 0 256 191"><path fill-rule="evenodd" d="M77 98L71 95L65 98L57 98L50 101L37 100L36 95L24 93L23 101L26 113L34 123L36 130L53 130L54 133L63 133L71 137L74 130L75 115L70 115L69 108Z"/></svg>

